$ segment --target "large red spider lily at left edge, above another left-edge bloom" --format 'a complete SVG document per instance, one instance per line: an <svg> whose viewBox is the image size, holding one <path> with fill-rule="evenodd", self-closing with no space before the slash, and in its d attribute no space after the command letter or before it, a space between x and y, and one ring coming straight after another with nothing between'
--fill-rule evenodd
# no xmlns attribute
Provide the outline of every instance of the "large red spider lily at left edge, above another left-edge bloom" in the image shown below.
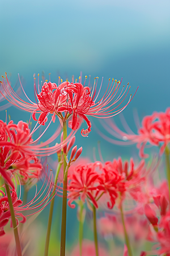
<svg viewBox="0 0 170 256"><path fill-rule="evenodd" d="M20 179L23 181L39 177L42 166L37 155L42 155L44 151L52 154L65 144L62 142L53 147L41 148L46 146L50 140L53 141L58 133L56 131L48 141L37 145L37 139L33 141L27 123L19 121L15 125L13 121L6 124L0 120L0 173L12 189L14 189L14 183L11 175L16 171L19 171Z"/></svg>

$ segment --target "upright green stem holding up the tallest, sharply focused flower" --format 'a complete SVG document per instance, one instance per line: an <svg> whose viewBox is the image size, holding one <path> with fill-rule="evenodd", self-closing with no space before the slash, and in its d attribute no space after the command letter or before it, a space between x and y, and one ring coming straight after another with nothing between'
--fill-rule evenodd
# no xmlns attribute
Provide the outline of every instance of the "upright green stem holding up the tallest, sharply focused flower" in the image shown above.
<svg viewBox="0 0 170 256"><path fill-rule="evenodd" d="M63 122L63 141L67 138L67 123ZM67 214L67 162L63 156L63 196L62 196L62 220L61 220L61 247L60 256L65 256L66 248L66 214Z"/></svg>

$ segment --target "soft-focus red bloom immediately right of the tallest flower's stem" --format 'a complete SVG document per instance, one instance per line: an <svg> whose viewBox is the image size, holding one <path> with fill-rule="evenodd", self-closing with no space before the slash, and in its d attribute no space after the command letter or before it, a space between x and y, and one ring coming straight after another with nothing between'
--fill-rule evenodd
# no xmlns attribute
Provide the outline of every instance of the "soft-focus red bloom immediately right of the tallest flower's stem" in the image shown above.
<svg viewBox="0 0 170 256"><path fill-rule="evenodd" d="M100 162L76 166L69 179L68 191L70 192L68 198L70 199L68 204L70 207L71 203L80 196L83 202L87 199L97 208L97 200L103 194L107 194L109 195L107 205L108 208L112 209L118 196L118 191L123 192L125 190L121 175L113 168L109 169L107 164L103 167Z"/></svg>

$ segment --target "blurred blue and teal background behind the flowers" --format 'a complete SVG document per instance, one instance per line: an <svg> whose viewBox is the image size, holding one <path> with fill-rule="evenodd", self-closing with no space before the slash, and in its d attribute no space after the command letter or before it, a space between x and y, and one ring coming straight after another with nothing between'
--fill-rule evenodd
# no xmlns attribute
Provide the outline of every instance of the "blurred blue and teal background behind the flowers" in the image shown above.
<svg viewBox="0 0 170 256"><path fill-rule="evenodd" d="M139 86L133 101L124 110L124 117L134 132L133 111L137 110L139 119L154 111L165 111L169 106L169 62L170 62L170 2L158 0L65 0L65 1L0 1L0 73L10 76L12 85L23 77L25 92L34 100L33 74L51 73L51 81L78 79L80 72L91 75L91 81L104 77L102 92L105 92L108 79L128 82L133 94ZM102 94L101 92L101 94ZM7 110L11 119L26 121L29 114L15 109ZM5 120L5 112L0 112ZM119 118L115 118L119 123ZM103 129L95 118L92 125ZM92 131L88 138L76 134L76 143L83 146L83 156L94 160L92 155L100 141L104 160L135 156L135 147L114 146L104 141ZM86 123L83 123L86 129ZM50 129L55 129L55 125ZM104 130L103 130L104 131ZM130 148L130 150L129 150ZM56 200L56 210L61 201ZM35 245L39 255L44 249L48 208L37 218L36 232L39 243ZM78 242L78 221L76 209L69 209L67 244ZM58 216L60 216L58 210ZM58 221L56 219L56 221ZM55 222L55 220L54 220ZM89 221L88 221L89 223ZM34 228L36 227L34 226ZM59 222L57 224L60 225ZM90 224L86 227L85 238L92 238ZM89 229L89 230L88 230ZM60 227L58 228L60 233ZM56 229L50 244L50 255L55 254ZM53 251L54 250L54 251ZM37 254L35 254L37 255ZM69 255L69 254L68 254Z"/></svg>

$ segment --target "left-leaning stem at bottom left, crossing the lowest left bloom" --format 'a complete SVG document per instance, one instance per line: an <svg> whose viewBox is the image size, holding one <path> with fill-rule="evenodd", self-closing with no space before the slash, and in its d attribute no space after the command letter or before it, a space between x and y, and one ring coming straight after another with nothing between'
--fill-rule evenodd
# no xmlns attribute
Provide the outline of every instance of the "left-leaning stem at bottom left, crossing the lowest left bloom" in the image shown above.
<svg viewBox="0 0 170 256"><path fill-rule="evenodd" d="M10 188L6 182L5 182L5 188L6 188L6 193L8 197L8 204L10 206L11 220L12 220L12 226L14 229L14 237L15 237L15 243L16 243L16 251L18 256L22 256L22 250L21 250L20 241L19 241L18 228L16 225L16 219L15 219L15 213L14 213L14 208L13 208L12 199L11 199Z"/></svg>

